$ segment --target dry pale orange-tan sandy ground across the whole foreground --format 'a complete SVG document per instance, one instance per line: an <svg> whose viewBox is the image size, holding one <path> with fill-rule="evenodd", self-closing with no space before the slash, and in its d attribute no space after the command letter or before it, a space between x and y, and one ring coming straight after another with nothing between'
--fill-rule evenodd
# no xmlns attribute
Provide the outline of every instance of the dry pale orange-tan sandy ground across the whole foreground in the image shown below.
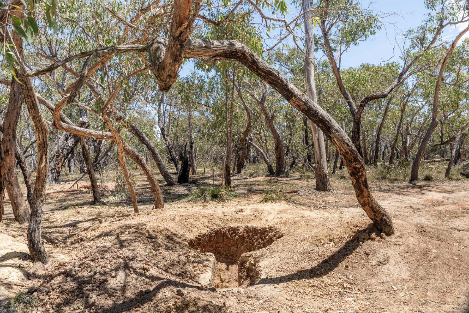
<svg viewBox="0 0 469 313"><path fill-rule="evenodd" d="M141 212L133 214L129 200L106 198L111 174L106 205L89 204L86 181L68 189L76 176L48 186L46 266L28 260L26 226L15 223L7 203L0 224L0 306L29 289L37 307L20 305L19 312L469 312L468 180L373 183L396 229L384 237L370 225L348 179L336 176L327 193L314 191L314 179L300 174L234 176L241 198L177 202L212 183L199 175L190 185L162 186L165 208L152 210L144 176L135 174ZM280 188L288 199L262 203L268 188ZM217 251L189 246L190 239L221 227L244 233L220 235ZM262 231L252 239L245 227ZM267 241L268 229L282 236ZM257 250L245 252L254 249L246 245L252 240ZM221 259L241 252L237 264ZM219 259L215 273L213 256Z"/></svg>

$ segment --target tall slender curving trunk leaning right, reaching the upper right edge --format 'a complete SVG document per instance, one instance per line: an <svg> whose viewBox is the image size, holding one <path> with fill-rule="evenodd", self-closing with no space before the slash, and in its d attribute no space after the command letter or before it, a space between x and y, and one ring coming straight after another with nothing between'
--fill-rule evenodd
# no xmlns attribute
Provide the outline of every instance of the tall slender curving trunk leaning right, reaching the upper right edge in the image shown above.
<svg viewBox="0 0 469 313"><path fill-rule="evenodd" d="M443 81L443 74L445 73L445 68L446 65L448 64L449 57L451 54L453 54L454 48L456 47L456 44L458 43L459 39L469 31L469 26L466 27L464 30L462 30L458 36L454 39L453 43L451 44L450 49L446 53L445 59L443 60L443 63L441 64L437 83L435 85L435 94L433 97L433 109L431 112L431 122L430 126L428 127L428 130L426 131L424 137L422 138L422 142L420 143L420 146L418 148L418 151L415 155L414 162L412 163L412 170L410 172L410 182L414 182L418 179L418 169L420 167L420 160L422 159L422 156L424 155L425 148L427 147L431 134L433 134L433 131L438 125L438 99L439 99L439 91L441 88L441 83Z"/></svg>

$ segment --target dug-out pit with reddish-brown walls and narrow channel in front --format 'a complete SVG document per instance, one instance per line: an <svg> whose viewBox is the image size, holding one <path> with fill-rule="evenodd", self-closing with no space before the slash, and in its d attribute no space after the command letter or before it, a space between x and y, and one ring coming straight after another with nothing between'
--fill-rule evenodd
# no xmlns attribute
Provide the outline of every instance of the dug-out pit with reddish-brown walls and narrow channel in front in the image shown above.
<svg viewBox="0 0 469 313"><path fill-rule="evenodd" d="M247 252L265 248L281 237L283 234L274 227L220 227L192 238L189 246L213 253L216 259L213 287L231 288L248 286L260 277L257 258Z"/></svg>

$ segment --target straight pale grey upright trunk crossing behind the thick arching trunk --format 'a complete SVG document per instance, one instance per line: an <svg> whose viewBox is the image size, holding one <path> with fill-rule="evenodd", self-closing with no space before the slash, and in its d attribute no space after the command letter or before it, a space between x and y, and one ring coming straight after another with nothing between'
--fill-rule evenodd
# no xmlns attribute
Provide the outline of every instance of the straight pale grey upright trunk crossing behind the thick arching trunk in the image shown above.
<svg viewBox="0 0 469 313"><path fill-rule="evenodd" d="M314 82L314 33L310 15L310 0L303 0L304 33L305 33L305 79L308 97L318 105L316 84ZM311 133L314 140L314 160L316 162L316 190L330 191L329 175L327 173L327 156L324 144L324 134L314 122L310 120Z"/></svg>

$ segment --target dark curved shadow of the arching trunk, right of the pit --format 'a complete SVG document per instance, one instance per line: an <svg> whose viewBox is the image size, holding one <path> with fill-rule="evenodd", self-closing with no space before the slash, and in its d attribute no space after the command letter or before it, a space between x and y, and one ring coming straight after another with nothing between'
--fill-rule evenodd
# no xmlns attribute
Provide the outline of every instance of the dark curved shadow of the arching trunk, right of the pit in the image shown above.
<svg viewBox="0 0 469 313"><path fill-rule="evenodd" d="M261 278L257 283L277 284L292 280L311 279L325 276L328 273L332 272L335 268L337 268L343 260L345 260L349 255L356 251L356 249L360 246L360 241L357 238L358 235L365 233L367 230L371 229L371 226L372 224L370 224L370 226L364 229L357 230L354 236L352 236L351 239L346 241L345 244L343 244L339 250L334 252L327 259L322 260L318 265L311 268L299 270L293 274L287 274L271 278Z"/></svg>

